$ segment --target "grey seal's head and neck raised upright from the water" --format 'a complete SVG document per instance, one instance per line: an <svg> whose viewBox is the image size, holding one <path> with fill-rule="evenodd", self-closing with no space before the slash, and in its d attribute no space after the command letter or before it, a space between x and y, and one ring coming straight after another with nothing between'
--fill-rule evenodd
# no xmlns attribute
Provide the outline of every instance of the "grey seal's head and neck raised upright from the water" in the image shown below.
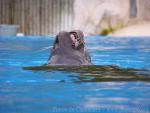
<svg viewBox="0 0 150 113"><path fill-rule="evenodd" d="M92 65L85 48L84 34L80 30L61 31L56 36L48 66Z"/></svg>

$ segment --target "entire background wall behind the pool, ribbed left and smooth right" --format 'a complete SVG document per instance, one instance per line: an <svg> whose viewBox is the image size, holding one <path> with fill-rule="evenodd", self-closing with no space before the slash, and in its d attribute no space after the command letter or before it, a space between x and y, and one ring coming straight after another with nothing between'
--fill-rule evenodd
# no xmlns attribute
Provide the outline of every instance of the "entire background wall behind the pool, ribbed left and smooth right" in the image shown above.
<svg viewBox="0 0 150 113"><path fill-rule="evenodd" d="M0 0L0 24L20 25L26 35L71 29L96 34L108 24L150 21L149 12L150 0Z"/></svg>

